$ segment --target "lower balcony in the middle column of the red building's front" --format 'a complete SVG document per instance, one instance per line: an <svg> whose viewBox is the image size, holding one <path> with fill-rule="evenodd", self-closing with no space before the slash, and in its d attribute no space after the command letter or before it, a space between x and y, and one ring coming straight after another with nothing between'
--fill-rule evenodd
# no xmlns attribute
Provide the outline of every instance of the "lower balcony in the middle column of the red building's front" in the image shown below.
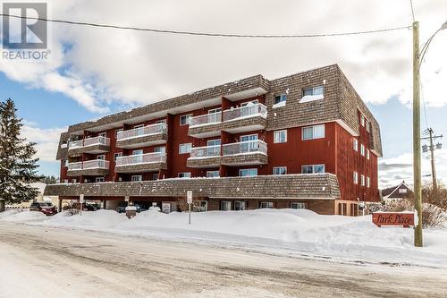
<svg viewBox="0 0 447 298"><path fill-rule="evenodd" d="M153 152L116 158L116 173L146 173L166 169L166 154Z"/></svg>

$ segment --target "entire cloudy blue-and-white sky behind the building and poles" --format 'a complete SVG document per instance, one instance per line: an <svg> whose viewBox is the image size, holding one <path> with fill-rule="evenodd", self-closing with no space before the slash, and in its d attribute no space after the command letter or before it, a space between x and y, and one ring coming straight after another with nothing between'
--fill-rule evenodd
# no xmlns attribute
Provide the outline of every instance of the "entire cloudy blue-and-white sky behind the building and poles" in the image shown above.
<svg viewBox="0 0 447 298"><path fill-rule="evenodd" d="M41 1L39 1L41 2ZM424 42L447 20L445 0L414 0ZM374 30L411 23L409 0L48 1L49 17L155 29L240 34ZM69 124L254 74L274 79L339 64L382 127L383 186L411 180L411 30L350 37L237 39L49 24L45 62L0 59L0 98L13 98L38 142L43 174L58 175L57 139ZM447 30L422 68L426 123L447 134ZM447 144L446 144L447 145ZM436 152L447 179L447 150ZM423 157L423 175L429 160Z"/></svg>

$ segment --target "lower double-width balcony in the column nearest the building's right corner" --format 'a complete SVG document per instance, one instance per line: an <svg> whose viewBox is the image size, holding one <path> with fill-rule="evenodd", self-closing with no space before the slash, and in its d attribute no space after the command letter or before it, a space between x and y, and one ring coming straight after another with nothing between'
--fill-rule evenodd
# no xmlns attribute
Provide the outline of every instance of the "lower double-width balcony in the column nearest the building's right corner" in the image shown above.
<svg viewBox="0 0 447 298"><path fill-rule="evenodd" d="M267 144L263 140L192 148L186 165L190 167L266 165Z"/></svg>

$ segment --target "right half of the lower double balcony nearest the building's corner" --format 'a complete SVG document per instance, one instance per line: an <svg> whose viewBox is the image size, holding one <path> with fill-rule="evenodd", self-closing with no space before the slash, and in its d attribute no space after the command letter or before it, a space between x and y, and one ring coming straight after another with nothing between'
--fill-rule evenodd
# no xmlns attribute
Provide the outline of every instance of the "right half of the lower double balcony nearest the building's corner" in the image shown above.
<svg viewBox="0 0 447 298"><path fill-rule="evenodd" d="M221 165L266 165L267 162L267 144L263 140L248 140L222 145Z"/></svg>

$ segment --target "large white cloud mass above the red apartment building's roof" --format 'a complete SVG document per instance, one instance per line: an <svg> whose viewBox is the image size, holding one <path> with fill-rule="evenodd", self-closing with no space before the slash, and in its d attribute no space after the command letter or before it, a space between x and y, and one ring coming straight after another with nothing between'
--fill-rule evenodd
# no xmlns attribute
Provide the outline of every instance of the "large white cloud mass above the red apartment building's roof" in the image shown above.
<svg viewBox="0 0 447 298"><path fill-rule="evenodd" d="M421 40L445 21L444 0L417 1ZM130 26L207 32L292 34L369 30L409 24L409 1L51 1L50 16ZM237 8L237 9L236 9ZM0 70L33 88L61 92L90 111L111 101L145 104L261 73L274 79L338 63L367 101L411 101L411 31L345 38L236 39L50 24L51 59L5 61ZM67 45L69 47L67 47ZM444 106L447 33L426 55L428 106Z"/></svg>

